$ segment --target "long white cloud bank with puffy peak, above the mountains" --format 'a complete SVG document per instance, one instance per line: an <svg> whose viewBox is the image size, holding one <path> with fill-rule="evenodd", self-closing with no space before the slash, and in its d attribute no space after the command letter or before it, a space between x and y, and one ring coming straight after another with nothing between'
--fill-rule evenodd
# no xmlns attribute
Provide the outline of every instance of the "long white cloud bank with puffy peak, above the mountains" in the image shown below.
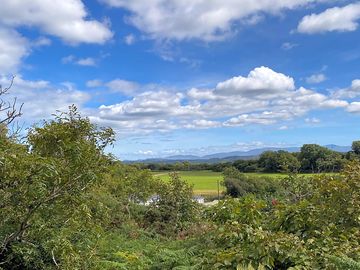
<svg viewBox="0 0 360 270"><path fill-rule="evenodd" d="M259 67L248 76L219 82L210 89L191 88L181 93L154 86L126 101L100 106L92 112L92 117L117 128L120 133L129 130L148 133L181 128L272 125L313 110L347 109L348 106L345 100L303 87L297 89L293 78Z"/></svg>

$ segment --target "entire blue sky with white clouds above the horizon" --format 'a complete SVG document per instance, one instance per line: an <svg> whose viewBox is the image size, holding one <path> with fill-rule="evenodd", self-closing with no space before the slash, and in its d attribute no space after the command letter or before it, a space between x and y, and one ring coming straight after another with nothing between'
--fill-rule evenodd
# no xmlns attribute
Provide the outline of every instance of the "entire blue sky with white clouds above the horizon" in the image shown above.
<svg viewBox="0 0 360 270"><path fill-rule="evenodd" d="M360 138L360 2L1 0L0 84L75 104L122 160Z"/></svg>

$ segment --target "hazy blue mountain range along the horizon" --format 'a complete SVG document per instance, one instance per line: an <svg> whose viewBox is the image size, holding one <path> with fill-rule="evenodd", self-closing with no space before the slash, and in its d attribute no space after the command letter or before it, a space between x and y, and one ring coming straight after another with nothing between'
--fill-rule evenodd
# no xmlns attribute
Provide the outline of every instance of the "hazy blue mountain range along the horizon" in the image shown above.
<svg viewBox="0 0 360 270"><path fill-rule="evenodd" d="M339 146L335 144L325 145L324 147L337 151L337 152L348 152L351 150L350 146ZM224 153L215 153L211 155L205 156L195 156L195 155L176 155L176 156L169 156L165 158L150 158L150 159L143 159L143 160L136 160L136 161L124 161L126 163L176 163L182 161L189 161L192 163L219 163L219 162L229 162L235 161L239 159L254 159L260 156L262 153L266 151L288 151L291 153L299 152L300 147L264 147L253 149L249 151L233 151L233 152L224 152Z"/></svg>

